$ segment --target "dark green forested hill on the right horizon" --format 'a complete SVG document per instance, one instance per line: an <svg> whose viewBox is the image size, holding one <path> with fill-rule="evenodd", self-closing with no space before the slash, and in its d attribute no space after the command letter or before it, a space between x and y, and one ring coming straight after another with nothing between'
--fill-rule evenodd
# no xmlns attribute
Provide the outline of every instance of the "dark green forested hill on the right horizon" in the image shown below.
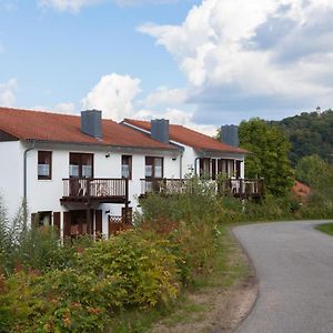
<svg viewBox="0 0 333 333"><path fill-rule="evenodd" d="M333 162L333 111L322 113L303 112L281 121L271 121L278 125L292 143L291 161L296 162L311 154L319 154L327 162Z"/></svg>

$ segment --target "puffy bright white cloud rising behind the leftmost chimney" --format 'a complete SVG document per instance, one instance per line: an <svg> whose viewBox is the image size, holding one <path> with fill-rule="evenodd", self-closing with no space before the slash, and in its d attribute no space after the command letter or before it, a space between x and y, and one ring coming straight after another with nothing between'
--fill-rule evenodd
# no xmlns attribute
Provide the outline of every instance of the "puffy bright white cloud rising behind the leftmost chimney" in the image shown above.
<svg viewBox="0 0 333 333"><path fill-rule="evenodd" d="M102 110L103 118L114 121L131 117L134 112L133 100L140 92L140 82L130 75L104 75L82 99L82 107Z"/></svg>

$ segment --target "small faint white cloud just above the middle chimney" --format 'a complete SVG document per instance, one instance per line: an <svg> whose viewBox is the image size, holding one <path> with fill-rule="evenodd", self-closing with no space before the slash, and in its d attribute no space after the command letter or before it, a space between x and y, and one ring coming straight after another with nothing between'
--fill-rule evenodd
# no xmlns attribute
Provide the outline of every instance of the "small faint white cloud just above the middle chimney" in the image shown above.
<svg viewBox="0 0 333 333"><path fill-rule="evenodd" d="M185 89L169 89L167 87L160 87L145 98L144 105L147 108L154 108L158 105L179 105L184 103L185 100Z"/></svg>

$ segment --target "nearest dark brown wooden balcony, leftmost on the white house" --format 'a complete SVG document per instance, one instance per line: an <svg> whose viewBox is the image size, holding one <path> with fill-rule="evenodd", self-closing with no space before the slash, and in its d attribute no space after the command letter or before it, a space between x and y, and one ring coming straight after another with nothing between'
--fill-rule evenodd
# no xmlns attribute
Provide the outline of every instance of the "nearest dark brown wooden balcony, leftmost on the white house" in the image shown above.
<svg viewBox="0 0 333 333"><path fill-rule="evenodd" d="M127 179L71 178L63 179L61 203L128 203Z"/></svg>

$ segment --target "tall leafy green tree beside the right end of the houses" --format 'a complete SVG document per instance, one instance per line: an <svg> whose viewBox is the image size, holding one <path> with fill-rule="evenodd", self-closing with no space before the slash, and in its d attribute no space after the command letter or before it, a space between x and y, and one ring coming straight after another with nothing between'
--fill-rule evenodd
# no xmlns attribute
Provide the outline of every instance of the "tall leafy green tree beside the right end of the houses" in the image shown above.
<svg viewBox="0 0 333 333"><path fill-rule="evenodd" d="M245 176L264 178L269 192L287 195L294 175L286 137L276 127L258 118L241 122L239 133L241 147L251 152L245 159Z"/></svg>

